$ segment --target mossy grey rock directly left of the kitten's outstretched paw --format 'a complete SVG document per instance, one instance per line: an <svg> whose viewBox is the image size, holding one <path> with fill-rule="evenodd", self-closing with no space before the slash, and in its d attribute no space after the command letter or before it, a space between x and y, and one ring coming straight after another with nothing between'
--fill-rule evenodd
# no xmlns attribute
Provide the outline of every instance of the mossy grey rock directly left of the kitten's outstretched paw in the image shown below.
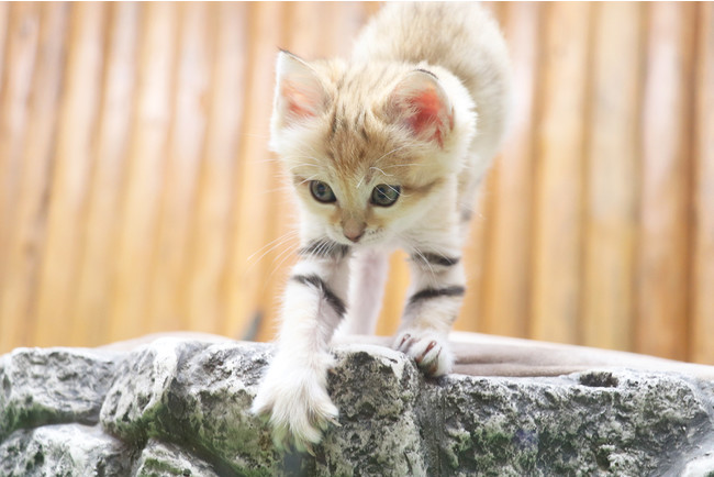
<svg viewBox="0 0 714 477"><path fill-rule="evenodd" d="M248 411L265 345L164 340L130 353L101 409L109 432L134 442L172 440L236 473L278 472L268 430Z"/></svg>

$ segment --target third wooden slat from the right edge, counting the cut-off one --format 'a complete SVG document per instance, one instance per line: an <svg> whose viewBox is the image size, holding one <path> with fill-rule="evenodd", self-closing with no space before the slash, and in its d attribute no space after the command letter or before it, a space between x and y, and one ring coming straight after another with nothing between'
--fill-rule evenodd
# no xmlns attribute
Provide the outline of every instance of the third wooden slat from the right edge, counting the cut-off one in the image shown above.
<svg viewBox="0 0 714 477"><path fill-rule="evenodd" d="M637 231L639 3L596 3L584 225L583 342L628 350Z"/></svg>

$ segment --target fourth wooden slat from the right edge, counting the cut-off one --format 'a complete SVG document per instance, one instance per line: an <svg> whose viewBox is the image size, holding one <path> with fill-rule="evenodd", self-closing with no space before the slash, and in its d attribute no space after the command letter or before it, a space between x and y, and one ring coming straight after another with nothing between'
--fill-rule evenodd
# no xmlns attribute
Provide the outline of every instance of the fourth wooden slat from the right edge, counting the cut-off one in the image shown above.
<svg viewBox="0 0 714 477"><path fill-rule="evenodd" d="M545 5L536 121L531 336L580 342L582 186L592 4Z"/></svg>

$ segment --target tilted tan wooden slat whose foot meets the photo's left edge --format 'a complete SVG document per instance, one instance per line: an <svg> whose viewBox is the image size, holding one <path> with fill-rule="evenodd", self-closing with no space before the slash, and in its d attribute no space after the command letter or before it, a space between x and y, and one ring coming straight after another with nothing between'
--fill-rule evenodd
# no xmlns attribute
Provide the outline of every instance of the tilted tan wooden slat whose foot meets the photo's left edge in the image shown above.
<svg viewBox="0 0 714 477"><path fill-rule="evenodd" d="M31 340L36 300L36 284L49 188L51 158L55 146L57 111L63 82L69 7L66 3L42 5L38 56L32 91L27 98L27 137L22 151L22 168L14 202L15 215L5 230L7 262L0 276L0 350L9 350ZM1 253L0 252L0 253ZM58 336L60 337L60 336Z"/></svg>

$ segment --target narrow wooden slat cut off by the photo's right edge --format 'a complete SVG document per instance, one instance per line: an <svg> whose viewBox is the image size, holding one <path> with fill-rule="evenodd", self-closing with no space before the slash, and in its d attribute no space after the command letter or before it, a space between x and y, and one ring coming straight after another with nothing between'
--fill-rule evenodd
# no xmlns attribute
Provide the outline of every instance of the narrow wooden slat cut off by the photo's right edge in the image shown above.
<svg viewBox="0 0 714 477"><path fill-rule="evenodd" d="M698 4L692 350L714 364L714 3Z"/></svg>

